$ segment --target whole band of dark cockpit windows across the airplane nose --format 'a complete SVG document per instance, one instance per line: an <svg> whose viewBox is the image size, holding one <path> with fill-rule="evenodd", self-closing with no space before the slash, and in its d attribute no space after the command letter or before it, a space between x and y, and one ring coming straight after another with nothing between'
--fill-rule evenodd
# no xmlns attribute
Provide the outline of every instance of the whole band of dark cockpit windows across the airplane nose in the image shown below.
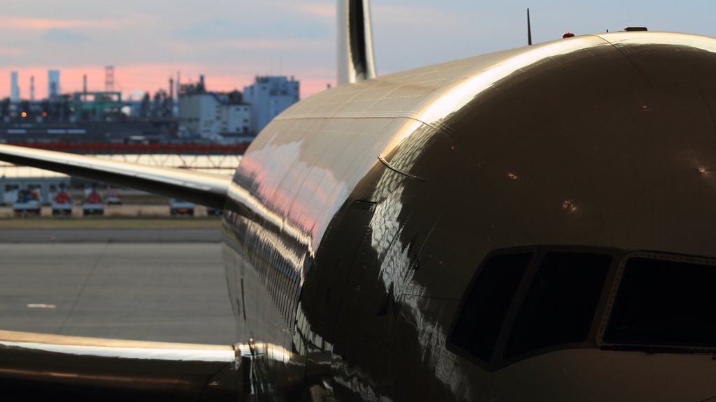
<svg viewBox="0 0 716 402"><path fill-rule="evenodd" d="M465 291L447 347L488 371L561 349L710 352L715 284L710 258L586 246L495 250Z"/></svg>

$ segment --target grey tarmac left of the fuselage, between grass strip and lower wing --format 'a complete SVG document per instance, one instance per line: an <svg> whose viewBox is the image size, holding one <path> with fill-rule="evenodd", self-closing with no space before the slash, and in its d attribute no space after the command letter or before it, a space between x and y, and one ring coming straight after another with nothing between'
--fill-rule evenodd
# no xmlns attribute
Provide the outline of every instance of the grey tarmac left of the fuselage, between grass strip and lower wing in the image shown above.
<svg viewBox="0 0 716 402"><path fill-rule="evenodd" d="M236 320L218 236L0 230L0 329L232 345Z"/></svg>

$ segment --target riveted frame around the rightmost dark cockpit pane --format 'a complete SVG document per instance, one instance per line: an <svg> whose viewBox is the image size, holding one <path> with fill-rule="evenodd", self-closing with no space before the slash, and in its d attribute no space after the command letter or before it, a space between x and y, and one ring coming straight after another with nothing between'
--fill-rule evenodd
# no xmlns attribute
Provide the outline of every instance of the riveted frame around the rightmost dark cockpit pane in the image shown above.
<svg viewBox="0 0 716 402"><path fill-rule="evenodd" d="M628 251L624 253L619 265L614 273L614 280L609 289L609 299L604 307L601 320L599 322L599 330L596 333L596 344L602 349L631 349L631 350L660 350L662 352L678 352L692 351L699 353L713 353L716 347L688 346L688 345L659 345L659 344L642 344L642 343L610 343L604 341L604 335L609 328L609 319L616 302L616 296L619 293L621 278L624 275L624 268L632 258L645 258L651 260L665 260L674 263L687 263L697 265L711 265L716 269L716 258L702 257L696 255L684 255L674 253L663 253L658 251Z"/></svg>

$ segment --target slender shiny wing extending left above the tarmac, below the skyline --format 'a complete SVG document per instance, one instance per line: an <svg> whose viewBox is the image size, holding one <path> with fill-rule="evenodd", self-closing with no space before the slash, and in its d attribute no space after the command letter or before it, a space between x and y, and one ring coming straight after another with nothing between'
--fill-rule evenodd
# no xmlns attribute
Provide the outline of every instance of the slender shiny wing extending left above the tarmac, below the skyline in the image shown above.
<svg viewBox="0 0 716 402"><path fill-rule="evenodd" d="M223 209L231 177L0 144L0 160Z"/></svg>

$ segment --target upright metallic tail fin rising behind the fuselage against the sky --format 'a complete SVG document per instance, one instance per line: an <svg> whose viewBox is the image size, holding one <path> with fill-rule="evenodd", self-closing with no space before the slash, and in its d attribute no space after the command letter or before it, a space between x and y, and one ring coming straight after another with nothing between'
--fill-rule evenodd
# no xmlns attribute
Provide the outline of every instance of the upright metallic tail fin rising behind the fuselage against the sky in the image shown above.
<svg viewBox="0 0 716 402"><path fill-rule="evenodd" d="M337 0L338 84L375 77L369 0Z"/></svg>

